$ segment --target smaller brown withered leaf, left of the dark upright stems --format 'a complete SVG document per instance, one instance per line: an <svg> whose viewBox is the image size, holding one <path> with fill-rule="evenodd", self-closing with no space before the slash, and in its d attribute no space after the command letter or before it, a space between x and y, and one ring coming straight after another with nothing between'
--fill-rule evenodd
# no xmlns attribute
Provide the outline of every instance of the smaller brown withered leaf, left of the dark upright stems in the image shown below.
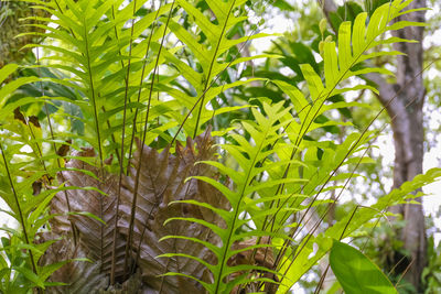
<svg viewBox="0 0 441 294"><path fill-rule="evenodd" d="M73 155L94 157L95 152L92 149L84 149L80 152L73 152ZM98 167L86 164L79 160L68 161L66 167L87 170L96 175L99 174ZM68 218L66 216L55 217L53 220L53 228L56 233L69 233L69 220L72 220L79 231L79 242L87 252L87 257L101 263L100 272L110 272L118 195L118 177L105 173L103 175L103 178L105 179L103 183L99 183L98 179L77 171L63 171L58 174L58 177L60 181L65 181L68 186L96 187L107 194L107 196L104 196L99 192L85 189L67 190L71 211L93 214L104 220L106 225L89 216L71 215ZM121 193L127 193L127 190L121 189ZM53 214L64 214L68 210L64 192L58 193L53 198L51 208ZM125 248L125 238L117 232L117 277L122 276Z"/></svg>

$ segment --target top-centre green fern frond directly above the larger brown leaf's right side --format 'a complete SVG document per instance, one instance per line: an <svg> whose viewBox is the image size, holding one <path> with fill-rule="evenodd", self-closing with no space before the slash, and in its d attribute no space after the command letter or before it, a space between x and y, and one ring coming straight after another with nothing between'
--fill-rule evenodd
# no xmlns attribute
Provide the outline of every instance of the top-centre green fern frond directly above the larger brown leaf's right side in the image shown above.
<svg viewBox="0 0 441 294"><path fill-rule="evenodd" d="M229 88L256 80L256 78L251 78L246 81L238 80L219 86L219 83L216 83L218 75L228 67L237 64L259 57L270 56L268 54L250 57L236 56L236 58L227 61L226 53L240 43L268 36L268 34L252 34L236 40L228 37L228 32L247 19L241 15L235 17L235 11L246 2L244 0L206 1L215 17L211 20L189 1L178 0L176 2L194 19L194 22L197 25L196 30L198 30L198 33L203 34L208 41L206 44L200 42L195 35L185 30L180 23L171 20L170 30L183 44L185 44L186 48L194 53L196 62L198 62L196 68L202 69L202 72L200 72L196 68L192 68L176 58L176 56L164 52L165 58L173 63L186 81L194 88L194 97L189 96L186 92L176 91L175 89L174 91L170 91L170 95L189 109L189 112L186 112L185 116L179 117L178 119L181 123L181 128L184 128L185 133L195 137L202 132L201 126L211 120L214 115L238 109L237 107L223 107L222 109L208 110L206 106L209 105L212 99Z"/></svg>

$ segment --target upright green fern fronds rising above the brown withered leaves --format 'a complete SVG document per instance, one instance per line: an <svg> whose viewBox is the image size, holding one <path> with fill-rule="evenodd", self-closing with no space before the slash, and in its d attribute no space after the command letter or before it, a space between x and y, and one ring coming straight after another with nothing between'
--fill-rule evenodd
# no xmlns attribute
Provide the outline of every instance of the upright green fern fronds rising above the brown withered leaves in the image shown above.
<svg viewBox="0 0 441 294"><path fill-rule="evenodd" d="M227 57L230 48L267 35L239 39L229 35L247 19L235 17L245 1L207 1L214 13L211 19L207 11L203 13L185 0L168 4L160 1L158 8L146 0L131 1L128 6L120 0L29 2L54 15L35 19L57 25L39 24L46 30L39 33L46 42L29 46L53 52L42 62L71 76L51 81L75 89L76 99L68 102L82 111L82 117L75 118L87 129L80 139L98 151L101 161L110 154L120 159L121 149L131 153L135 137L144 137L147 144L158 137L170 142L180 134L176 133L179 124L184 129L180 139L201 133L201 126L213 116L239 108L208 110L209 101L222 91L249 81L220 85L216 83L218 75L228 67L268 56ZM146 7L149 13L138 18ZM189 28L182 25L181 18L174 17L183 11L194 21ZM197 40L193 30L206 37ZM171 34L184 46L171 47ZM195 59L183 58L187 51ZM160 68L166 68L172 75L162 76ZM172 86L181 83L181 78L189 87ZM66 97L56 98L66 100ZM123 165L127 166L127 161Z"/></svg>

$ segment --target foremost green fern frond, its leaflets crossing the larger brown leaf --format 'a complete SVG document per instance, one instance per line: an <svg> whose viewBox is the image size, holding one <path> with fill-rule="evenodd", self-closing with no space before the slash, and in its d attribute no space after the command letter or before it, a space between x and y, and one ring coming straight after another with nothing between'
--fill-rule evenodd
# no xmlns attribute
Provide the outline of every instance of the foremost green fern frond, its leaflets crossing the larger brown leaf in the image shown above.
<svg viewBox="0 0 441 294"><path fill-rule="evenodd" d="M244 130L252 138L252 143L248 142L244 139L244 137L232 133L230 137L235 140L235 144L222 144L220 146L227 151L235 161L239 164L239 171L234 171L219 162L208 161L202 162L201 164L211 165L218 170L219 173L228 175L228 177L233 181L234 188L232 189L224 184L206 177L206 176L194 176L193 178L203 181L213 185L216 189L218 189L226 199L228 199L232 210L224 210L214 208L204 203L197 202L181 202L191 204L194 206L205 207L211 209L214 214L218 215L225 220L226 227L219 227L218 225L209 224L202 219L196 218L187 218L187 217L179 217L172 218L168 221L172 220L185 220L190 222L197 222L203 226L209 228L213 232L215 232L222 240L222 247L219 248L212 248L212 252L214 252L217 257L218 263L216 266L207 265L208 269L212 271L214 276L213 284L204 283L204 287L211 293L225 293L230 291L237 283L241 283L245 280L247 274L251 271L267 271L271 272L269 268L263 266L256 266L256 265L246 265L246 266L230 266L228 265L228 260L233 258L233 255L237 255L244 251L252 251L259 248L267 248L267 250L273 250L275 246L267 243L267 244L255 244L252 247L246 247L238 251L234 251L234 254L230 251L230 247L235 242L240 242L245 238L250 237L272 237L272 238L286 238L283 235L275 233L271 231L265 230L257 230L257 231L249 231L249 232L241 232L241 228L247 222L255 222L259 224L260 218L268 217L269 215L273 214L275 210L271 210L270 207L266 207L266 200L261 199L259 196L260 190L267 189L268 187L277 186L281 183L291 183L291 182L299 182L302 181L300 178L283 178L283 179L268 179L263 182L255 181L256 177L260 176L261 174L266 173L268 170L273 168L272 164L279 165L278 161L271 161L270 159L276 150L268 149L276 141L281 138L279 131L286 127L289 121L280 122L281 118L289 113L291 108L283 108L282 102L279 102L273 106L269 106L263 104L263 109L267 116L260 113L257 109L251 109L256 122L251 121L244 121L243 128ZM288 197L283 193L277 195L280 198ZM254 202L252 197L256 197ZM260 206L258 204L263 204ZM250 218L241 219L239 216L252 211L252 209L257 209L259 214L254 213ZM284 211L284 210L283 210ZM259 226L261 228L261 226ZM172 236L166 238L173 238ZM185 237L179 237L184 238ZM198 242L198 241L197 241ZM233 254L233 255L232 255ZM173 255L173 254L172 254ZM240 273L239 275L237 275ZM275 273L276 274L276 273ZM227 281L224 277L229 276ZM235 277L236 276L236 277ZM238 277L239 276L239 277ZM247 280L248 281L248 280ZM254 282L259 281L252 280Z"/></svg>

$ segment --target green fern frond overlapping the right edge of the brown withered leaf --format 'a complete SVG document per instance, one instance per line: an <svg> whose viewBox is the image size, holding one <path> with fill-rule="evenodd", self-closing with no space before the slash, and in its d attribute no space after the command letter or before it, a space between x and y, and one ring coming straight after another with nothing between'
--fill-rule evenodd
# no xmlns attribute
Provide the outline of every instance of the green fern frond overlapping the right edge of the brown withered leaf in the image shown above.
<svg viewBox="0 0 441 294"><path fill-rule="evenodd" d="M232 134L232 139L235 140L234 144L223 144L222 148L226 150L238 163L239 170L234 171L228 166L225 166L218 162L203 162L205 164L213 165L218 168L222 174L228 175L234 182L235 189L232 190L225 185L216 182L209 177L201 177L197 176L195 178L202 179L212 184L219 192L224 194L224 196L228 199L232 209L229 211L219 210L215 207L208 207L217 213L226 222L226 229L223 229L217 226L213 226L212 224L207 224L206 221L200 219L185 219L186 221L196 221L202 225L211 228L217 236L220 237L222 248L211 247L214 253L217 257L218 263L216 265L207 264L208 269L212 271L214 275L213 284L204 284L205 288L211 293L228 293L233 290L233 287L239 283L244 283L247 281L246 275L240 275L238 280L229 281L228 283L224 282L224 279L229 274L235 272L243 272L247 270L258 270L258 268L252 265L247 266L228 266L227 262L230 258L240 253L241 251L250 250L250 248L245 248L241 250L232 251L230 248L234 242L241 241L246 237L262 237L262 236L271 236L286 238L283 235L278 232L266 232L262 227L262 219L269 218L271 215L276 213L287 213L289 209L289 204L279 209L278 207L271 207L269 205L273 202L286 202L289 203L294 202L297 198L293 195L287 194L286 192L279 192L276 194L270 194L268 192L272 190L271 187L276 187L277 185L283 185L295 182L303 182L300 178L280 178L278 181L255 181L255 178L262 175L263 172L268 172L272 168L277 168L280 165L292 164L300 165L299 161L286 161L286 162L277 162L276 164L271 161L266 161L267 157L270 157L275 154L278 148L273 148L277 141L281 140L282 133L278 133L278 130L281 128L286 128L286 126L290 122L289 120L284 122L278 122L281 120L283 116L289 113L290 108L282 108L282 104L279 102L275 106L269 106L263 102L263 110L266 111L268 117L263 117L258 110L252 109L252 113L256 118L256 121L243 121L241 127L244 130L250 134L254 144L251 145L249 141L245 140L240 134ZM288 148L288 146L286 146ZM267 193L266 193L267 192ZM247 196L250 194L259 193L267 197L262 197L259 199L250 199ZM190 203L190 202L180 202L180 203ZM191 204L200 205L206 207L205 204L191 202ZM266 209L259 209L259 205L266 207ZM240 219L240 215L249 211L250 218L245 217ZM183 219L183 218L173 218L173 219ZM170 220L173 220L170 219ZM240 228L248 222L254 222L257 225L258 230L251 232L240 232ZM259 232L260 231L260 232ZM260 235L261 233L261 235ZM269 247L265 244L260 244L260 247ZM257 247L256 247L257 248ZM173 254L171 254L173 255ZM260 270L268 270L261 268ZM261 279L255 280L258 282Z"/></svg>

